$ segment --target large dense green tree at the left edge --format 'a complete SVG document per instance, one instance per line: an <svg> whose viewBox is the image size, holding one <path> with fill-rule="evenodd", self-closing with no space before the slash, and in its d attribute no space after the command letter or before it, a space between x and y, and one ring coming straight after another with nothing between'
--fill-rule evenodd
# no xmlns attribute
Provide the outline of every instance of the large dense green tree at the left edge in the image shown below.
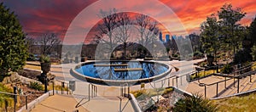
<svg viewBox="0 0 256 112"><path fill-rule="evenodd" d="M0 4L0 72L22 69L28 56L25 35L14 12Z"/></svg>

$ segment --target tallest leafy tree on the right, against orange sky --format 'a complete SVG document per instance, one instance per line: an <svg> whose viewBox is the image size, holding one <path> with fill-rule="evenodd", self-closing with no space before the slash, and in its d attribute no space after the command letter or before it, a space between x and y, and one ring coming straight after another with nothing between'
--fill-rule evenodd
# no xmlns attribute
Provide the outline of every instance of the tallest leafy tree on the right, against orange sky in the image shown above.
<svg viewBox="0 0 256 112"><path fill-rule="evenodd" d="M222 25L222 35L225 40L230 43L234 54L236 48L241 44L242 27L238 22L245 16L246 13L241 11L241 8L233 8L231 4L224 4L218 11L218 19Z"/></svg>

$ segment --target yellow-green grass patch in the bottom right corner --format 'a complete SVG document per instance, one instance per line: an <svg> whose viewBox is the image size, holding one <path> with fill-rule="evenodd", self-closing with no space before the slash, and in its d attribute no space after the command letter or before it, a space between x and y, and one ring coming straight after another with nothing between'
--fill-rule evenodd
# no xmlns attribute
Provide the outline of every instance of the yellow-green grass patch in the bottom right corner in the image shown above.
<svg viewBox="0 0 256 112"><path fill-rule="evenodd" d="M218 105L219 111L251 112L255 111L256 109L256 93L252 93L243 97L232 97L214 100L213 102Z"/></svg>

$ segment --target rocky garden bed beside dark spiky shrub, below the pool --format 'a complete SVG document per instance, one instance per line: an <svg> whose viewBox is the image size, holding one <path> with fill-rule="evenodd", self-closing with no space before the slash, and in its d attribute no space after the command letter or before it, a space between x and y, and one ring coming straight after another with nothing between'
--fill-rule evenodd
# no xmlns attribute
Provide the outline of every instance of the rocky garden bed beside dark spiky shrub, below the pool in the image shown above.
<svg viewBox="0 0 256 112"><path fill-rule="evenodd" d="M141 89L131 92L137 99L143 111L172 111L178 99L183 98L183 93L174 91L174 88Z"/></svg>

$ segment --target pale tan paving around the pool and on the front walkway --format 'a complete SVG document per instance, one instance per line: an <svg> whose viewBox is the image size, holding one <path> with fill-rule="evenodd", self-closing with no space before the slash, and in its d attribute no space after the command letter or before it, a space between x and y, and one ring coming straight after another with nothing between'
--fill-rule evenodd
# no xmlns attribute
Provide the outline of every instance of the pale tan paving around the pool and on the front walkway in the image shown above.
<svg viewBox="0 0 256 112"><path fill-rule="evenodd" d="M175 67L179 68L180 70L175 72L172 70L171 75L182 75L186 72L189 72L190 70L194 70L195 66L193 65L196 62L201 61L202 59L197 59L193 61L159 61L166 64L172 64ZM73 68L76 64L52 64L51 66L51 73L54 74L56 77L56 80L65 80L65 81L76 81L76 90L73 92L72 96L61 96L61 95L55 95L52 97L47 98L44 100L41 104L38 104L32 111L46 111L49 110L47 105L52 105L55 107L55 109L60 109L65 111L73 111L76 110L75 105L81 101L81 99L84 96L83 103L79 107L79 111L91 111L91 112L98 112L98 111L106 111L106 112L113 112L113 111L119 111L119 98L120 96L120 87L115 86L104 86L104 85L98 85L94 84L97 87L97 97L90 98L90 101L88 101L89 96L89 82L80 81L79 79L74 78L70 75L69 70ZM169 76L169 75L168 75ZM185 79L181 80L183 81L183 86L180 86L179 88L187 88L189 86L189 83L185 82ZM172 81L170 81L170 85L172 85ZM165 81L160 81L156 83L146 83L145 88L155 88L155 87L167 87L168 83ZM141 89L141 85L134 85L130 87L131 91L139 90ZM80 96L80 97L79 97ZM71 101L72 100L72 101ZM68 106L67 106L68 105ZM68 107L68 108L67 108ZM83 108L84 109L83 109ZM66 109L67 108L67 109ZM124 112L131 112L134 111L134 109L131 106L130 101L127 98L122 99L121 102L121 108ZM49 110L51 111L51 110ZM54 111L54 110L53 110Z"/></svg>

